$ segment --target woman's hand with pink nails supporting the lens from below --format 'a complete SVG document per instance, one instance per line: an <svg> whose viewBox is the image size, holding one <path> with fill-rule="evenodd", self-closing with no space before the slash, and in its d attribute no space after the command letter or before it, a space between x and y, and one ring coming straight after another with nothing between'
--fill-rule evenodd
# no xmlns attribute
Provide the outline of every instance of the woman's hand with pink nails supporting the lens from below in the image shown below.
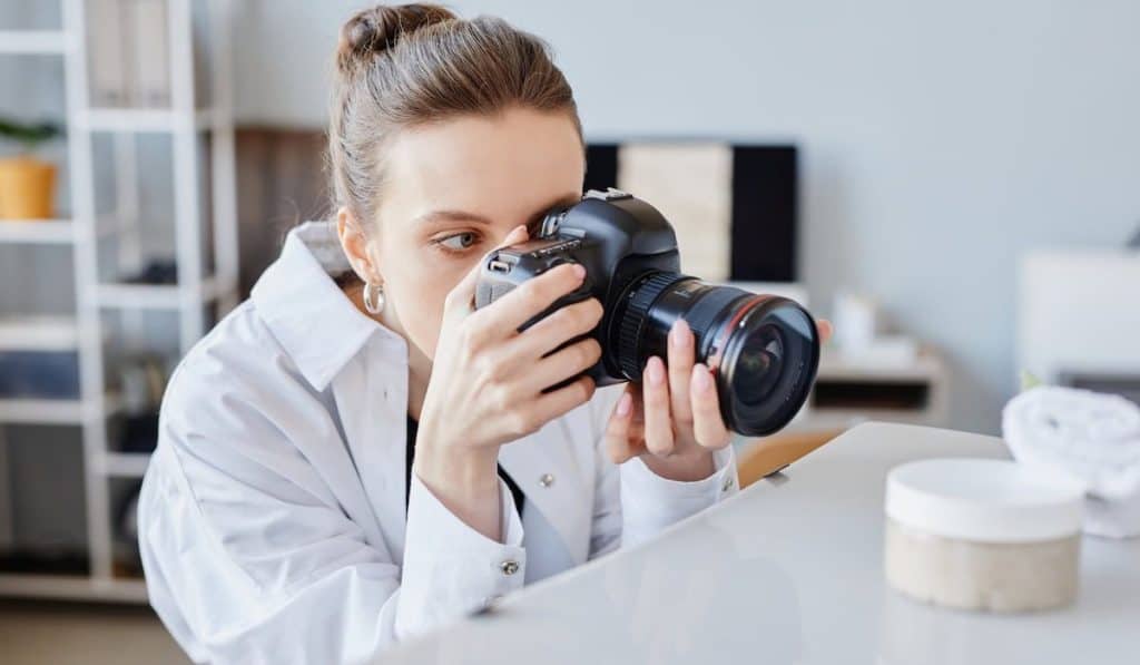
<svg viewBox="0 0 1140 665"><path fill-rule="evenodd" d="M817 322L820 343L831 338L831 323ZM669 331L669 363L651 356L640 383L629 382L610 415L605 439L616 464L640 455L654 473L670 480L701 480L712 475L712 451L732 440L720 417L716 381L703 363L694 363L694 338L683 319Z"/></svg>

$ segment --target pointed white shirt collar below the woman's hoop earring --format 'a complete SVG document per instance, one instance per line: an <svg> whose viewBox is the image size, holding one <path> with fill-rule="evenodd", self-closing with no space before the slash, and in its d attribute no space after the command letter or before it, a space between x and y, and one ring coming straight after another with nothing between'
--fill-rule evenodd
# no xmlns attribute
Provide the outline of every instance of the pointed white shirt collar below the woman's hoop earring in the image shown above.
<svg viewBox="0 0 1140 665"><path fill-rule="evenodd" d="M335 222L307 221L288 232L280 256L250 292L262 321L317 390L373 335L407 354L404 338L365 316L333 281L349 269Z"/></svg>

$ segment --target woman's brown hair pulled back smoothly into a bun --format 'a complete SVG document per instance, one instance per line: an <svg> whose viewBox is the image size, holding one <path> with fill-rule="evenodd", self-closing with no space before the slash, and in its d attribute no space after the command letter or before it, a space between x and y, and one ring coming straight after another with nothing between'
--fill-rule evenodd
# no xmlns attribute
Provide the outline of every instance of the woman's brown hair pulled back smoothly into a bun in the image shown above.
<svg viewBox="0 0 1140 665"><path fill-rule="evenodd" d="M383 145L394 131L511 106L565 112L581 136L570 84L537 37L437 5L358 11L336 49L327 153L334 210L373 218Z"/></svg>

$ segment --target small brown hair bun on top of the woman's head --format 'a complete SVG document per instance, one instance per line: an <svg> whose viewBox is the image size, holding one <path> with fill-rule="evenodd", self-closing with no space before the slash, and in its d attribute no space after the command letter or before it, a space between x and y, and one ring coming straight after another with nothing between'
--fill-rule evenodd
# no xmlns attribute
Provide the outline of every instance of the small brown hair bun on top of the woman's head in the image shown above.
<svg viewBox="0 0 1140 665"><path fill-rule="evenodd" d="M341 27L336 65L345 73L392 48L399 39L426 25L456 18L439 5L376 5L357 11Z"/></svg>

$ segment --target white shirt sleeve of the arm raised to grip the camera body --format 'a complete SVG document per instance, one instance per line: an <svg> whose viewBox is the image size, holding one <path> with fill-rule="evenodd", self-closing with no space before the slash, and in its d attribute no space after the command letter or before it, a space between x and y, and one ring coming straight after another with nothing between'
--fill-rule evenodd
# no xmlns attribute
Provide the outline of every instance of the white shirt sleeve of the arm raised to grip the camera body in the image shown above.
<svg viewBox="0 0 1140 665"><path fill-rule="evenodd" d="M150 603L193 660L370 663L522 585L522 524L505 482L504 543L415 482L401 569L298 448L341 445L327 412L308 395L285 402L285 382L266 398L227 376L171 378L139 500Z"/></svg>

